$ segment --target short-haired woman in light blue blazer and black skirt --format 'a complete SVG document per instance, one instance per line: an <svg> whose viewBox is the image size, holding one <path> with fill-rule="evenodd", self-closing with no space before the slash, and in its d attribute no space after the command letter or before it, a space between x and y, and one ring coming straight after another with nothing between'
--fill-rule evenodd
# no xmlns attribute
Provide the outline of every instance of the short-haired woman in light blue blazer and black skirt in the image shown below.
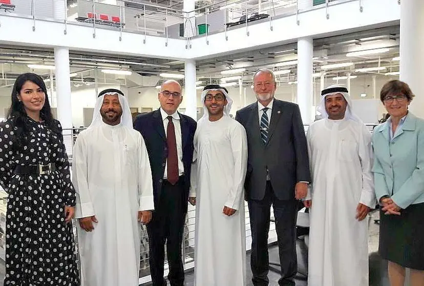
<svg viewBox="0 0 424 286"><path fill-rule="evenodd" d="M374 129L374 183L380 205L379 254L389 261L392 286L424 285L424 120L408 111L414 94L391 80L380 100L389 119Z"/></svg>

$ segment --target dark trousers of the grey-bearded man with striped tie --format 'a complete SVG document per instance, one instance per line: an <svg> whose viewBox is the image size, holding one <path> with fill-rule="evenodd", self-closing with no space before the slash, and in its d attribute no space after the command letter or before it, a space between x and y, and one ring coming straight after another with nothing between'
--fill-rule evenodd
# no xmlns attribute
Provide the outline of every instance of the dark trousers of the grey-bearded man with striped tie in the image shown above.
<svg viewBox="0 0 424 286"><path fill-rule="evenodd" d="M275 230L281 264L279 285L293 285L298 269L296 257L296 218L298 200L279 200L275 197L271 183L267 181L265 196L262 200L248 201L250 229L252 232L252 250L250 266L253 285L268 285L268 232L271 205L274 209Z"/></svg>

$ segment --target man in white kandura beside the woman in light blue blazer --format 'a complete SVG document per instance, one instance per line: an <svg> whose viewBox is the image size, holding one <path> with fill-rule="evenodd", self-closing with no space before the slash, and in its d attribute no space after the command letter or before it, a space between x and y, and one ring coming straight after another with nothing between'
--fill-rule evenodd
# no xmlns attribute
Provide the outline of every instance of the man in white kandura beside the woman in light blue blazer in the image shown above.
<svg viewBox="0 0 424 286"><path fill-rule="evenodd" d="M308 286L368 286L368 223L376 205L371 134L345 87L321 92L322 120L308 129L311 192ZM312 195L312 200L311 199Z"/></svg>

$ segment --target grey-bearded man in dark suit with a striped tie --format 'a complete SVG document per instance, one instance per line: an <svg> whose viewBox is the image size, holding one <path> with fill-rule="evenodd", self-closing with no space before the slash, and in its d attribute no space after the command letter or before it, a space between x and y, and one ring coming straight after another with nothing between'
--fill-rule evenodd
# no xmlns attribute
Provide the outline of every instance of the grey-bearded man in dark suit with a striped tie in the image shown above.
<svg viewBox="0 0 424 286"><path fill-rule="evenodd" d="M294 285L297 271L296 215L310 182L308 148L298 105L274 99L275 75L253 76L258 101L236 113L248 142L246 199L250 214L253 285L268 285L268 232L274 210L281 264L279 285Z"/></svg>

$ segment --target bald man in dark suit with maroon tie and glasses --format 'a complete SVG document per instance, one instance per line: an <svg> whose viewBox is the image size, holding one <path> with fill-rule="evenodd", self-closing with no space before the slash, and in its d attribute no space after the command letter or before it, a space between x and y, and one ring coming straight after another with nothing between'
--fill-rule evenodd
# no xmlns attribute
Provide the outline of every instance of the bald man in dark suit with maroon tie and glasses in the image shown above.
<svg viewBox="0 0 424 286"><path fill-rule="evenodd" d="M181 86L175 80L162 84L160 108L137 117L149 153L153 176L155 211L147 224L150 245L150 272L154 286L164 286L165 241L172 286L184 284L181 244L187 213L190 168L196 121L177 112L182 101Z"/></svg>

